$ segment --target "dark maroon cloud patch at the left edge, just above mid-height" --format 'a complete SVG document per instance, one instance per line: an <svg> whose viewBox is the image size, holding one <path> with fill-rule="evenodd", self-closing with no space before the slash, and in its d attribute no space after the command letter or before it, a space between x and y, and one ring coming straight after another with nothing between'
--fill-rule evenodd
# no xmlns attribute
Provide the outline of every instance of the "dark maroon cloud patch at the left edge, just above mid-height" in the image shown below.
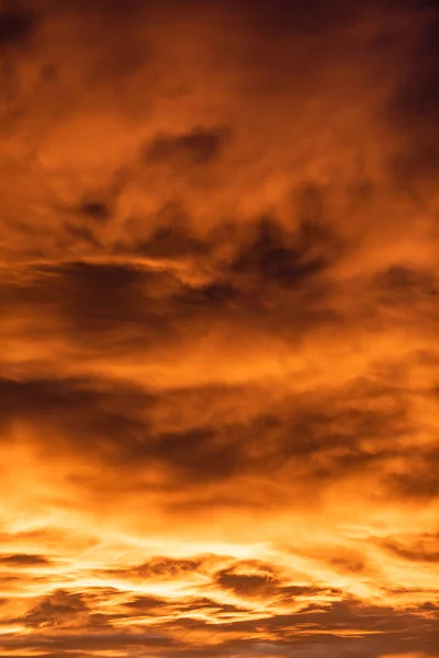
<svg viewBox="0 0 439 658"><path fill-rule="evenodd" d="M11 295L35 309L55 313L83 338L93 333L110 336L133 322L144 331L140 337L137 331L134 338L146 342L148 336L157 341L173 332L167 299L179 284L170 274L74 262L36 270L35 275L34 282L25 283L20 292L7 291L5 302Z"/></svg>

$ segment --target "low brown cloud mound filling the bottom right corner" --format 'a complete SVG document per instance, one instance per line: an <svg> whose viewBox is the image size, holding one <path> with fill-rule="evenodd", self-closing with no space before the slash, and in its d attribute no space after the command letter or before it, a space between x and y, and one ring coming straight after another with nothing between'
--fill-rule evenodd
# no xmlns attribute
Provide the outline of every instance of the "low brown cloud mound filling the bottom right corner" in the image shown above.
<svg viewBox="0 0 439 658"><path fill-rule="evenodd" d="M402 629L402 624L405 624ZM181 620L188 629L210 626L206 623ZM213 625L210 626L213 631ZM251 621L238 621L222 626L224 640L212 655L224 656L230 651L252 655L256 646L264 646L268 655L290 655L303 651L309 655L359 655L379 658L385 655L420 650L435 655L437 628L410 613L396 613L387 608L358 604L354 600L330 605L309 608L297 614L278 614ZM228 634L239 633L241 639L228 639ZM419 633L423 634L420 639ZM351 634L351 635L349 635ZM269 636L269 639L267 638ZM257 644L258 643L258 644ZM182 647L182 650L183 647ZM190 650L190 649L187 649ZM211 654L206 654L210 656Z"/></svg>

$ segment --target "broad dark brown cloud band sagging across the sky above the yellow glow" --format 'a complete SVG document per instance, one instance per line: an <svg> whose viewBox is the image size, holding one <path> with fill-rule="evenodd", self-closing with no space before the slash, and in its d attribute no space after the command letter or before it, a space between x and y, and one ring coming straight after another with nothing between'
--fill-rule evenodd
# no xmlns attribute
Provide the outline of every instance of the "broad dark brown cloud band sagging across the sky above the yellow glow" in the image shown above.
<svg viewBox="0 0 439 658"><path fill-rule="evenodd" d="M368 388L368 408L363 408ZM261 477L268 468L271 474L294 473L296 486L312 479L322 490L339 478L382 468L385 495L416 499L437 492L430 469L436 453L412 450L408 460L404 445L398 445L410 432L406 394L380 392L372 383L362 383L358 390L347 386L335 396L320 394L318 400L312 395L300 400L289 398L278 413L259 407L243 422L225 416L191 419L184 427L181 419L173 430L167 430L165 419L158 419L192 404L193 392L168 397L166 393L100 379L3 379L0 392L3 422L21 417L41 431L49 431L45 450L56 449L59 455L66 449L74 455L88 454L102 460L114 474L132 469L135 477L147 465L160 467L171 489L182 483L189 487L185 504L193 495L200 509L203 504L196 491L207 481L214 485L232 477ZM227 388L222 394L234 395ZM216 395L212 390L212 396ZM207 404L214 399L204 397ZM386 441L389 432L392 446ZM55 435L63 439L55 443ZM386 468L395 458L405 464L398 474ZM238 499L243 496L246 498L240 492ZM272 503L282 504L280 500Z"/></svg>

